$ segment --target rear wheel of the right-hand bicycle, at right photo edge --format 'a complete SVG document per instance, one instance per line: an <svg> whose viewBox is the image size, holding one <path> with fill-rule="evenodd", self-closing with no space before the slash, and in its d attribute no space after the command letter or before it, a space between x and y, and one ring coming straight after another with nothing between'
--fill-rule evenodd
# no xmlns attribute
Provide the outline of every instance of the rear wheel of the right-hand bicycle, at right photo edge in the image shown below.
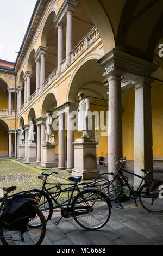
<svg viewBox="0 0 163 256"><path fill-rule="evenodd" d="M151 212L162 212L163 202L158 193L149 192L149 185L144 184L139 190L139 200L143 208Z"/></svg>

